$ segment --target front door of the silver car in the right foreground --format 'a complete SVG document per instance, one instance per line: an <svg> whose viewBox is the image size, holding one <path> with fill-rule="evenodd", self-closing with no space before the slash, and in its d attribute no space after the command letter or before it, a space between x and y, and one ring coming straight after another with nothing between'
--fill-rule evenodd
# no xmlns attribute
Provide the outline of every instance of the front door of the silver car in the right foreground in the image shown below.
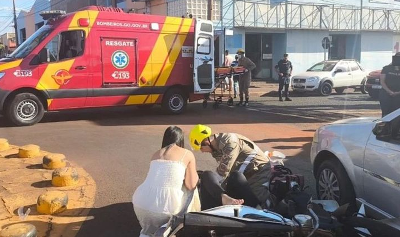
<svg viewBox="0 0 400 237"><path fill-rule="evenodd" d="M393 116L396 113L397 117ZM398 217L400 216L398 199L400 197L400 110L384 119L387 117L391 124L392 136L382 140L372 133L366 146L363 198L370 205Z"/></svg>

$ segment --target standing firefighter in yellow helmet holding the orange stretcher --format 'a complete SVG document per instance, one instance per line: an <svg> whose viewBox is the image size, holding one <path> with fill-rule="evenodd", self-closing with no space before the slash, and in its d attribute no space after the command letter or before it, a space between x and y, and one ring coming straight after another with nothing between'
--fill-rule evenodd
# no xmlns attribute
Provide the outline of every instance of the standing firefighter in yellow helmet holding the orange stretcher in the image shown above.
<svg viewBox="0 0 400 237"><path fill-rule="evenodd" d="M238 49L236 52L239 57L239 66L246 69L245 73L239 76L239 97L240 102L237 104L239 106L249 105L249 87L251 83L251 71L256 68L254 64L248 57L244 56L244 49ZM243 103L243 97L246 101Z"/></svg>

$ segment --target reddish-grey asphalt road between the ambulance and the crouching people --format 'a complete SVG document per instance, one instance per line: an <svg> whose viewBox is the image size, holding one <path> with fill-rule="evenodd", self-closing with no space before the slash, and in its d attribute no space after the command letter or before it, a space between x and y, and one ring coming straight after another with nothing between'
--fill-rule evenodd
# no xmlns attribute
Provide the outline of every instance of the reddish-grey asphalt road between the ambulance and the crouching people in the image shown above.
<svg viewBox="0 0 400 237"><path fill-rule="evenodd" d="M194 124L208 124L214 132L238 132L263 150L279 150L288 156L286 165L306 176L310 192L315 182L309 158L314 130L334 120L380 116L377 101L359 92L330 97L293 95L292 102L278 102L276 92L252 98L249 107L206 109L188 105L184 115L166 116L160 108L140 111L136 107L90 109L48 113L42 122L12 127L0 117L0 137L10 143L34 143L44 150L62 152L94 178L97 184L94 219L84 223L78 236L137 236L140 231L131 198L144 180L153 152L161 146L169 125L186 134ZM188 146L188 144L187 144ZM214 170L208 154L195 153L198 170Z"/></svg>

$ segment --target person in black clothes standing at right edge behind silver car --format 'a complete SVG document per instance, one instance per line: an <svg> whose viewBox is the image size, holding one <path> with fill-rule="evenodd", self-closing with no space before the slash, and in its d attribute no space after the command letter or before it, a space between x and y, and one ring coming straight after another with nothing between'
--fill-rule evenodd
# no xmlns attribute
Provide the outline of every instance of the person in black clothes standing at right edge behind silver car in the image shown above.
<svg viewBox="0 0 400 237"><path fill-rule="evenodd" d="M393 56L390 65L383 67L380 83L379 103L384 117L400 108L400 53Z"/></svg>

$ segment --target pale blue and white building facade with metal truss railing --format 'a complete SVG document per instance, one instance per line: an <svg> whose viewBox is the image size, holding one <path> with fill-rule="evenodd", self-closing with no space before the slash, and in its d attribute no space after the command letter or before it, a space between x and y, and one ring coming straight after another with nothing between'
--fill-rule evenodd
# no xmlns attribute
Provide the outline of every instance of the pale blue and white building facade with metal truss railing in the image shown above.
<svg viewBox="0 0 400 237"><path fill-rule="evenodd" d="M366 69L381 69L399 51L399 0L223 0L222 5L217 32L234 30L225 48L246 49L257 64L254 77L276 79L274 65L284 53L294 73L301 73L324 58L358 59ZM331 42L327 50L325 37Z"/></svg>

